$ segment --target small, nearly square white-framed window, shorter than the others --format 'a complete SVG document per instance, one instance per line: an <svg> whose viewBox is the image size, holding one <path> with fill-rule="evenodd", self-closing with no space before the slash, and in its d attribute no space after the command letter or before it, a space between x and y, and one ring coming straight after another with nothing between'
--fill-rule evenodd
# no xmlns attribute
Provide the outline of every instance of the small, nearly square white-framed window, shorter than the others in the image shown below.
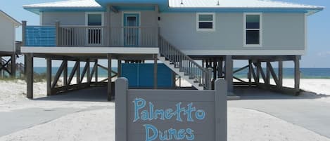
<svg viewBox="0 0 330 141"><path fill-rule="evenodd" d="M198 32L215 31L215 13L197 13L196 17Z"/></svg>

